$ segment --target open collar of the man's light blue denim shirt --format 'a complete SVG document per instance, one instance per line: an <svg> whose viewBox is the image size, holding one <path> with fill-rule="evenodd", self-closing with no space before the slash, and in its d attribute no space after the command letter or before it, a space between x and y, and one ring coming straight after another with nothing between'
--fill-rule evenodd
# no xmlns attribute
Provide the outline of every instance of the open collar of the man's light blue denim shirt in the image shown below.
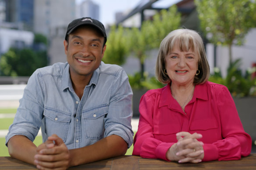
<svg viewBox="0 0 256 170"><path fill-rule="evenodd" d="M92 84L95 84L96 86L99 80L99 76L100 76L100 69L98 68L93 72L92 78L88 86L91 86ZM67 88L69 88L70 91L74 91L71 83L70 73L69 73L69 64L66 66L63 72L61 90L65 90Z"/></svg>

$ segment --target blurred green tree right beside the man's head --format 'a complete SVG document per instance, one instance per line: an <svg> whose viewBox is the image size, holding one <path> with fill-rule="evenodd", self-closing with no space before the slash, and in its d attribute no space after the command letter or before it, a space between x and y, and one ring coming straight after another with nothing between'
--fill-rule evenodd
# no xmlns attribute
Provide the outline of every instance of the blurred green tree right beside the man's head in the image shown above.
<svg viewBox="0 0 256 170"><path fill-rule="evenodd" d="M119 25L112 26L107 38L107 49L104 53L103 62L122 65L126 61L129 52L129 42L124 28Z"/></svg>

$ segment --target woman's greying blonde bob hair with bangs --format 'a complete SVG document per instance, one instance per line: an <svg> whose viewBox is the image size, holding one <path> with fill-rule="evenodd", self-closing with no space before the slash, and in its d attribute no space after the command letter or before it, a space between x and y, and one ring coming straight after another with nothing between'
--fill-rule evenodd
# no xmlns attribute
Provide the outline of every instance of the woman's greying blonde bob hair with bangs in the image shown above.
<svg viewBox="0 0 256 170"><path fill-rule="evenodd" d="M161 42L157 61L156 61L156 79L161 83L171 83L171 79L164 73L165 58L172 52L175 43L178 43L181 52L187 52L192 49L193 52L199 54L198 69L199 75L195 75L194 84L205 83L210 76L210 66L206 58L206 52L203 46L203 39L193 30L177 29L171 31Z"/></svg>

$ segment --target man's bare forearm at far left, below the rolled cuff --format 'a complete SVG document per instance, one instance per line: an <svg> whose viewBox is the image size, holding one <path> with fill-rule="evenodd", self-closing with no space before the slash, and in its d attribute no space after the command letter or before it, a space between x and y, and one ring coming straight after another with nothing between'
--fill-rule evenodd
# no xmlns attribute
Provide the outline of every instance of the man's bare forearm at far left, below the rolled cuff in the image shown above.
<svg viewBox="0 0 256 170"><path fill-rule="evenodd" d="M10 156L34 164L34 156L36 155L36 145L23 135L15 135L7 143Z"/></svg>

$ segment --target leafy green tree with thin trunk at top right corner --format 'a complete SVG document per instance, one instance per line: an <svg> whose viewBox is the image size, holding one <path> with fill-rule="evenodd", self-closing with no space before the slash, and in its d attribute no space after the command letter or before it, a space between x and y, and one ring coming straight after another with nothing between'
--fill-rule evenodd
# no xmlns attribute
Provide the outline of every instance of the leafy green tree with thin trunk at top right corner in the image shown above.
<svg viewBox="0 0 256 170"><path fill-rule="evenodd" d="M229 64L231 45L242 45L250 28L256 26L255 0L195 0L201 27L210 33L217 45L228 45Z"/></svg>

